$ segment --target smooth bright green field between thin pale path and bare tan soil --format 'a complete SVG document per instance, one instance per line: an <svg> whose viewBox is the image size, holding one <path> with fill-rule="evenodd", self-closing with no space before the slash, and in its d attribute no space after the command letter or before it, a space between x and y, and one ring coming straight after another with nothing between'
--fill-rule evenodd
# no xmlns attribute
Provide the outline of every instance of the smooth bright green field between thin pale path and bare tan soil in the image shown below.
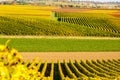
<svg viewBox="0 0 120 80"><path fill-rule="evenodd" d="M4 44L8 38L0 38ZM11 38L10 47L20 52L120 51L120 40Z"/></svg>

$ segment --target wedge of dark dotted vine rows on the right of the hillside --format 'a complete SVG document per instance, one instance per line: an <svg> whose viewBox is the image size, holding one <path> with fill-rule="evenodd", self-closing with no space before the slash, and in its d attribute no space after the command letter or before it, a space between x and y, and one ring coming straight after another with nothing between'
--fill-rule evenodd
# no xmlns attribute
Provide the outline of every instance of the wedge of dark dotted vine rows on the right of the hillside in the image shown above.
<svg viewBox="0 0 120 80"><path fill-rule="evenodd" d="M95 17L91 17L91 18L59 17L58 21L83 25L89 28L104 30L104 31L113 32L113 33L120 33L120 31L116 28L115 25L109 23L108 20L104 18L97 19Z"/></svg>

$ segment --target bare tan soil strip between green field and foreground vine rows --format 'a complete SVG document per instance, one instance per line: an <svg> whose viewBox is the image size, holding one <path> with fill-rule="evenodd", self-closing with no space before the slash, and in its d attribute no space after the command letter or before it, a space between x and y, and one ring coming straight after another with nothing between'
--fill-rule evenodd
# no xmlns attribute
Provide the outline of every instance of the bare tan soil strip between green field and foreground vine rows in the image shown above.
<svg viewBox="0 0 120 80"><path fill-rule="evenodd" d="M96 59L120 59L120 52L20 52L23 56L23 59L26 61L29 59L33 60L35 57L39 57L43 62L48 60L51 62L61 62L65 59L68 61L71 60L96 60Z"/></svg>

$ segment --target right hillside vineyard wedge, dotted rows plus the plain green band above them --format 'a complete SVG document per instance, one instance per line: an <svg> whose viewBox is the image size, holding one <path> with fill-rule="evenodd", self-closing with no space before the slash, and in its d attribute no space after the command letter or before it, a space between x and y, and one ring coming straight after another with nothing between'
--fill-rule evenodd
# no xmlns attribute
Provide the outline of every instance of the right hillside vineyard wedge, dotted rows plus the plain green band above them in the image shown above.
<svg viewBox="0 0 120 80"><path fill-rule="evenodd" d="M118 21L120 21L120 19L107 14L56 12L54 15L59 22L67 22L70 24L85 26L89 29L101 31L101 33L103 31L103 33L114 33L118 36L120 34L120 25L117 24L119 23ZM112 20L115 20L116 24L114 24ZM104 36L108 36L108 34L104 33Z"/></svg>

